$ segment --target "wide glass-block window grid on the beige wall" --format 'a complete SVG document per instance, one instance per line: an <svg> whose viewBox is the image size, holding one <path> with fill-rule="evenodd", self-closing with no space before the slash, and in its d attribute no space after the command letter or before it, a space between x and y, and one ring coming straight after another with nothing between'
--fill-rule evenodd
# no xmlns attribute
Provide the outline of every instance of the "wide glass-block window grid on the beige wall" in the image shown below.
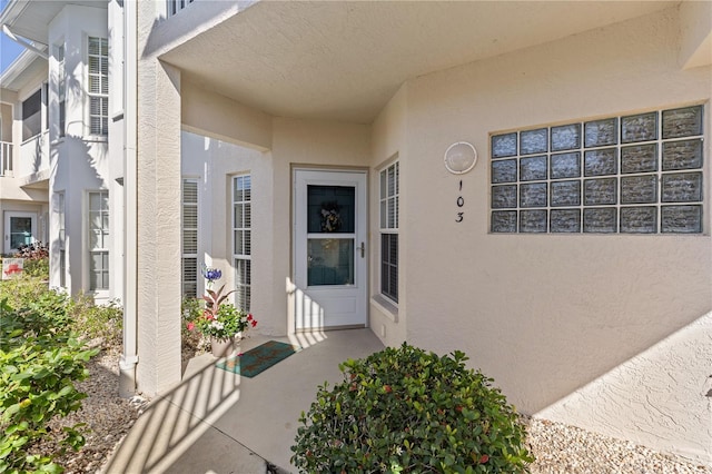
<svg viewBox="0 0 712 474"><path fill-rule="evenodd" d="M703 106L491 136L492 233L701 234Z"/></svg>

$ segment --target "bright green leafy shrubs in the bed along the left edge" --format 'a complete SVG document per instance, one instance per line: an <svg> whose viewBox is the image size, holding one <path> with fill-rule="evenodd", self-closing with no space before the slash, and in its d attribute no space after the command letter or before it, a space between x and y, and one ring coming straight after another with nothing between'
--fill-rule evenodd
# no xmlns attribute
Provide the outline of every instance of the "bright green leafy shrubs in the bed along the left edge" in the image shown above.
<svg viewBox="0 0 712 474"><path fill-rule="evenodd" d="M53 458L79 450L87 428L50 424L81 407L76 383L99 352L87 342L121 333L118 306L72 299L46 282L27 274L0 282L0 473L63 471ZM47 445L58 450L47 453Z"/></svg>

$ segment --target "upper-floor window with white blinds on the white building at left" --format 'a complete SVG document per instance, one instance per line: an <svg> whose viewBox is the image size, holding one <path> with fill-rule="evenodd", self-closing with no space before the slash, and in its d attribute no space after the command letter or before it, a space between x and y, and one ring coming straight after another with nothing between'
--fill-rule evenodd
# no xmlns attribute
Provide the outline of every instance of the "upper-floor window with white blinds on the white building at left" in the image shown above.
<svg viewBox="0 0 712 474"><path fill-rule="evenodd" d="M109 134L109 41L89 38L89 129L91 135Z"/></svg>

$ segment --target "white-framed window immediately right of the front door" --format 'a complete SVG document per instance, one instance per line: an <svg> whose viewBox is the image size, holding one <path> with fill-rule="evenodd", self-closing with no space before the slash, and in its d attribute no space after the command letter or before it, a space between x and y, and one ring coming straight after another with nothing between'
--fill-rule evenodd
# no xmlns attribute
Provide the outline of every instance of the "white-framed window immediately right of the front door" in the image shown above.
<svg viewBox="0 0 712 474"><path fill-rule="evenodd" d="M393 177L393 182L389 181L389 177ZM400 165L398 160L392 161L384 167L378 174L378 290L380 295L387 300L397 304L398 303L398 260L399 260L399 238L398 238L398 219L399 219L399 198L400 196ZM384 238L389 238L388 245L393 244L393 237L395 236L396 244L396 261L386 260L384 255L386 249ZM388 275L386 275L384 266L388 266ZM392 271L395 269L395 287L390 278Z"/></svg>

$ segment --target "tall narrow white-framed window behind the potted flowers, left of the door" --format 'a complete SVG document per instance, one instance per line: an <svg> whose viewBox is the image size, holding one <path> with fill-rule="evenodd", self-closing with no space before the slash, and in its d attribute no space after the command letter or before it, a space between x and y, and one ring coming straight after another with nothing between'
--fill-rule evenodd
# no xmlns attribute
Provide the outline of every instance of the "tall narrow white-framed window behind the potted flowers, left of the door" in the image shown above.
<svg viewBox="0 0 712 474"><path fill-rule="evenodd" d="M250 310L251 299L251 206L250 175L233 178L233 260L235 265L235 306Z"/></svg>

